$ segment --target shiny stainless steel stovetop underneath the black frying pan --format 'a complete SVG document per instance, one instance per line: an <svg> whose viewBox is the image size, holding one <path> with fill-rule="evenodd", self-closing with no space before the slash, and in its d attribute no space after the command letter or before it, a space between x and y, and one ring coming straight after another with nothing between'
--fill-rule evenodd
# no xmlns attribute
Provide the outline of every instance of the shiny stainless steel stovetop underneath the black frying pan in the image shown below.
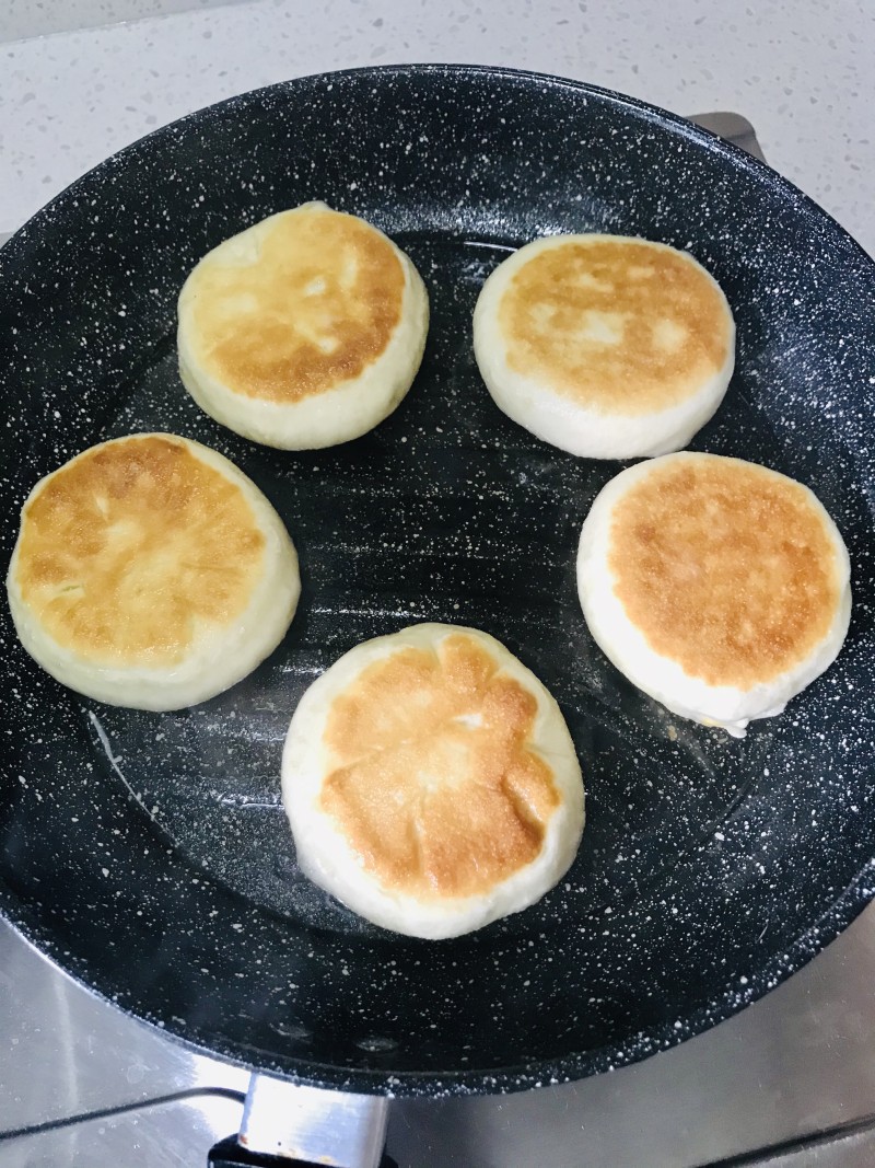
<svg viewBox="0 0 875 1168"><path fill-rule="evenodd" d="M694 120L762 158L736 114ZM400 1168L868 1168L873 969L875 905L765 999L645 1063L516 1096L394 1100L388 1154ZM239 1129L249 1072L97 1000L2 920L0 987L1 1168L203 1168Z"/></svg>

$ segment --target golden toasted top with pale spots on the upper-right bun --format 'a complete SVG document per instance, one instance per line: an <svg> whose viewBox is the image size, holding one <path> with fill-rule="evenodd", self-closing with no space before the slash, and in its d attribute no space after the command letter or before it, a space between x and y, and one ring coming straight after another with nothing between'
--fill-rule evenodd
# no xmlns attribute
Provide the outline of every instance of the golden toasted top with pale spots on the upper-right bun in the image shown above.
<svg viewBox="0 0 875 1168"><path fill-rule="evenodd" d="M668 409L724 364L729 322L710 278L671 249L569 239L511 278L498 325L510 368L586 409Z"/></svg>

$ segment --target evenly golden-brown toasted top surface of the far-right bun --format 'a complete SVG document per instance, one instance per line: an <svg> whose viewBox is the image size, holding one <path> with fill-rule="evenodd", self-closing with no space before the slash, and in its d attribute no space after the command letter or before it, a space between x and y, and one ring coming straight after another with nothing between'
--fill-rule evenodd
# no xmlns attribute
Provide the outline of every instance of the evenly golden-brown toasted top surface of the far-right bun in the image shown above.
<svg viewBox="0 0 875 1168"><path fill-rule="evenodd" d="M807 656L841 598L806 491L729 459L670 463L632 486L612 512L608 566L657 653L742 690Z"/></svg>

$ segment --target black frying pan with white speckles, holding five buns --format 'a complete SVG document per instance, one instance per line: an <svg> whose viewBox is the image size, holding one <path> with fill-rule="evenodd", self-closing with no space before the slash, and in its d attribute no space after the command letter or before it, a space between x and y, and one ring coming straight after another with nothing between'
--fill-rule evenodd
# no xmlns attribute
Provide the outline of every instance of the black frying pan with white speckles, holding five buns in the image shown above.
<svg viewBox="0 0 875 1168"><path fill-rule="evenodd" d="M259 447L202 415L175 300L220 239L323 199L405 248L432 297L398 411L334 450ZM845 648L744 741L673 718L592 641L581 521L620 464L575 459L492 405L470 314L511 249L558 231L688 248L738 326L693 446L811 486L853 563ZM873 895L875 273L804 195L707 132L559 78L380 68L272 86L104 162L0 253L8 555L34 481L98 440L170 430L233 459L298 544L280 648L203 705L96 704L0 614L0 905L121 1009L238 1063L359 1091L513 1090L668 1047L764 994ZM574 867L456 940L393 936L298 871L279 795L307 684L364 638L478 626L556 696L588 790Z"/></svg>

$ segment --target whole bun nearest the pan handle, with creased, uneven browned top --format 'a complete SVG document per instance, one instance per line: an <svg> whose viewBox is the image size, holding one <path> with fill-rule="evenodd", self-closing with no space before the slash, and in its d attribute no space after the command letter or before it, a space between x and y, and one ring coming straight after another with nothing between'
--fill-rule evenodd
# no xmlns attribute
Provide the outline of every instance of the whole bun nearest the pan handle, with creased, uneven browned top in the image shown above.
<svg viewBox="0 0 875 1168"><path fill-rule="evenodd" d="M282 798L301 870L411 937L456 937L533 904L583 829L555 701L494 638L452 625L365 641L310 686Z"/></svg>

